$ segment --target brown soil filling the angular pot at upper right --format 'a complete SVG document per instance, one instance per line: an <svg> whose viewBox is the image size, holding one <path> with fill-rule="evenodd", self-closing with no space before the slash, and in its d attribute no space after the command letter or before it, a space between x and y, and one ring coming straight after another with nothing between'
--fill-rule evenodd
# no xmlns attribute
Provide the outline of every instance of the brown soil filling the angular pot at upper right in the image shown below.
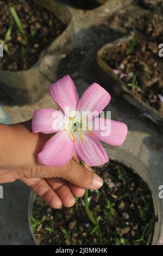
<svg viewBox="0 0 163 256"><path fill-rule="evenodd" d="M140 100L163 113L162 58L158 45L163 42L163 17L150 13L134 22L136 35L127 44L103 52L103 60L121 77Z"/></svg>

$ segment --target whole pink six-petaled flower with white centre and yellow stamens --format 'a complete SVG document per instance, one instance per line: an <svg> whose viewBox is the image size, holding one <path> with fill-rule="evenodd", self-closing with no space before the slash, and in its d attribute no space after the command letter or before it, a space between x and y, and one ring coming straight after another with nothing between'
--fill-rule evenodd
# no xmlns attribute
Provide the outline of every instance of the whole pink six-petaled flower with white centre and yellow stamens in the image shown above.
<svg viewBox="0 0 163 256"><path fill-rule="evenodd" d="M108 105L110 94L99 84L93 83L79 100L76 87L68 75L52 84L49 93L61 110L37 109L34 112L32 120L34 133L55 132L38 154L38 162L44 166L62 166L72 159L74 151L80 160L90 166L99 166L108 162L108 155L98 140L110 145L121 145L127 135L125 124L97 117ZM66 107L70 108L69 114L65 111ZM76 111L82 113L82 118L77 117ZM90 117L93 116L90 127L86 126L83 111L86 114L93 112L87 118L89 124ZM105 135L106 127L110 129Z"/></svg>

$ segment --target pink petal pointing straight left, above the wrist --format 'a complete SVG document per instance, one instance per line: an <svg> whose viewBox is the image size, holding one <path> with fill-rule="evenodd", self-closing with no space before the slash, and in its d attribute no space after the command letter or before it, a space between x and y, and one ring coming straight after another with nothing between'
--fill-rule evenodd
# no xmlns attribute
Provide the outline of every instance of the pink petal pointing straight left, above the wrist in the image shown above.
<svg viewBox="0 0 163 256"><path fill-rule="evenodd" d="M52 108L36 109L32 119L33 133L54 133L61 130L63 113Z"/></svg>

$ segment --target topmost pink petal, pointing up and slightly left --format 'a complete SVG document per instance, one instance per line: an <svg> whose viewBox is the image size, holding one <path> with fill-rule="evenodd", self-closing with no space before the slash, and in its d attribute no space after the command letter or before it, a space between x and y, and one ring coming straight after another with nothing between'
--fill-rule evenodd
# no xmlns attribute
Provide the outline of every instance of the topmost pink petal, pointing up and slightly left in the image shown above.
<svg viewBox="0 0 163 256"><path fill-rule="evenodd" d="M65 107L69 107L70 112L77 110L79 98L70 76L64 76L53 83L49 88L49 93L64 113Z"/></svg>

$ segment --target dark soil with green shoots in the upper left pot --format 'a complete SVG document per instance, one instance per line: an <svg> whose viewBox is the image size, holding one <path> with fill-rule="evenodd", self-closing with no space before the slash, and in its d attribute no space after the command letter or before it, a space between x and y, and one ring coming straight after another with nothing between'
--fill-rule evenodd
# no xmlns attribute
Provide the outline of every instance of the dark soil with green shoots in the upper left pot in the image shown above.
<svg viewBox="0 0 163 256"><path fill-rule="evenodd" d="M10 8L14 7L20 19L26 42L18 29ZM0 39L4 41L8 29L11 33L5 42L8 47L0 58L0 69L27 70L39 60L40 53L60 35L64 29L57 17L33 0L2 0L0 2Z"/></svg>

